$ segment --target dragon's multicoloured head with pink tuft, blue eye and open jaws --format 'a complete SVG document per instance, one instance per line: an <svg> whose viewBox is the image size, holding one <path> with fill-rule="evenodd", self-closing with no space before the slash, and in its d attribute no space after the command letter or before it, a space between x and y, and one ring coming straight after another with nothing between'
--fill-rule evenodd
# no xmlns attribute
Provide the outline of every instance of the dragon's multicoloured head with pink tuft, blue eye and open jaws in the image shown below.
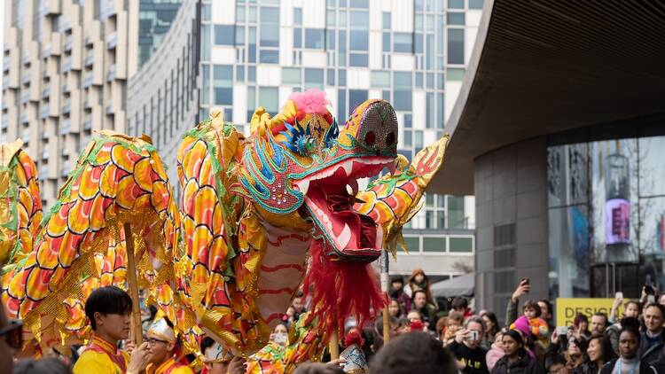
<svg viewBox="0 0 665 374"><path fill-rule="evenodd" d="M340 129L327 104L324 92L309 90L294 93L274 118L258 108L235 191L254 201L263 220L311 230L329 258L373 261L382 230L353 205L358 178L394 165L395 111L367 100Z"/></svg>

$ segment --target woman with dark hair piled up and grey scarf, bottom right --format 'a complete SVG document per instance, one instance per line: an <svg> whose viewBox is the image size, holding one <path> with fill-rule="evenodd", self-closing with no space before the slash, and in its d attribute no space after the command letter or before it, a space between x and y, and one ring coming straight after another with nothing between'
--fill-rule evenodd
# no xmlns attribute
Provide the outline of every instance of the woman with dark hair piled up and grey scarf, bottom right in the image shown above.
<svg viewBox="0 0 665 374"><path fill-rule="evenodd" d="M599 374L635 373L657 374L658 371L644 360L639 359L640 335L637 318L627 317L622 320L622 331L619 334L620 357L607 362Z"/></svg>

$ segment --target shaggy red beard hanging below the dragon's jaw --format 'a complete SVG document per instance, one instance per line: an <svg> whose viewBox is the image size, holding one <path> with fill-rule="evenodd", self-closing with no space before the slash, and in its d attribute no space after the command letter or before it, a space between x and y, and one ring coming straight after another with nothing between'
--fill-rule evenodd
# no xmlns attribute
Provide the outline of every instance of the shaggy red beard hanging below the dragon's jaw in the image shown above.
<svg viewBox="0 0 665 374"><path fill-rule="evenodd" d="M326 256L325 245L325 240L312 240L303 291L312 297L311 316L325 326L327 335L343 327L348 317L355 317L358 326L372 321L386 307L387 295L370 263L333 261Z"/></svg>

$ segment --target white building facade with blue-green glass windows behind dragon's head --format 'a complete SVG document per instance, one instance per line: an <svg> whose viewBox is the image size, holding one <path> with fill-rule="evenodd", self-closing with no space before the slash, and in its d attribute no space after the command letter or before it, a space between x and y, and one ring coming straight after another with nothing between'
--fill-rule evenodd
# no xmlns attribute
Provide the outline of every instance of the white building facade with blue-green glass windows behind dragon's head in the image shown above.
<svg viewBox="0 0 665 374"><path fill-rule="evenodd" d="M201 118L213 108L247 131L293 91L325 90L341 123L369 97L395 106L399 152L443 135L465 74L482 0L203 1ZM473 197L428 194L391 273L473 271Z"/></svg>

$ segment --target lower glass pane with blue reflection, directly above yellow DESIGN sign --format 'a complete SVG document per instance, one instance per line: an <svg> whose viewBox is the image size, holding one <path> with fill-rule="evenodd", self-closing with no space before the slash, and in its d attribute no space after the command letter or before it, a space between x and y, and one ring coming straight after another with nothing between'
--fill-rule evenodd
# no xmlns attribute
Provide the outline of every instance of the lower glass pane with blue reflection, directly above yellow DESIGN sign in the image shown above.
<svg viewBox="0 0 665 374"><path fill-rule="evenodd" d="M548 222L550 298L588 297L591 258L588 208L552 208Z"/></svg>

